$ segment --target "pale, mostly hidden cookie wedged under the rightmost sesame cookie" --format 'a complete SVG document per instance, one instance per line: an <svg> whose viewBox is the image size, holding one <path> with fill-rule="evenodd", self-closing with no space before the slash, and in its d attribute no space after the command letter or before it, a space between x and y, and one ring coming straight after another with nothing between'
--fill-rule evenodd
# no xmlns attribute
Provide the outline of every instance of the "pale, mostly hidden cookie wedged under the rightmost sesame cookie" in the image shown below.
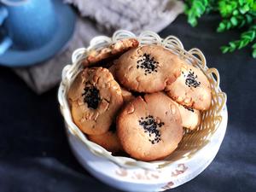
<svg viewBox="0 0 256 192"><path fill-rule="evenodd" d="M201 124L201 112L195 108L189 108L174 102L179 110L182 125L189 130L194 130Z"/></svg>

